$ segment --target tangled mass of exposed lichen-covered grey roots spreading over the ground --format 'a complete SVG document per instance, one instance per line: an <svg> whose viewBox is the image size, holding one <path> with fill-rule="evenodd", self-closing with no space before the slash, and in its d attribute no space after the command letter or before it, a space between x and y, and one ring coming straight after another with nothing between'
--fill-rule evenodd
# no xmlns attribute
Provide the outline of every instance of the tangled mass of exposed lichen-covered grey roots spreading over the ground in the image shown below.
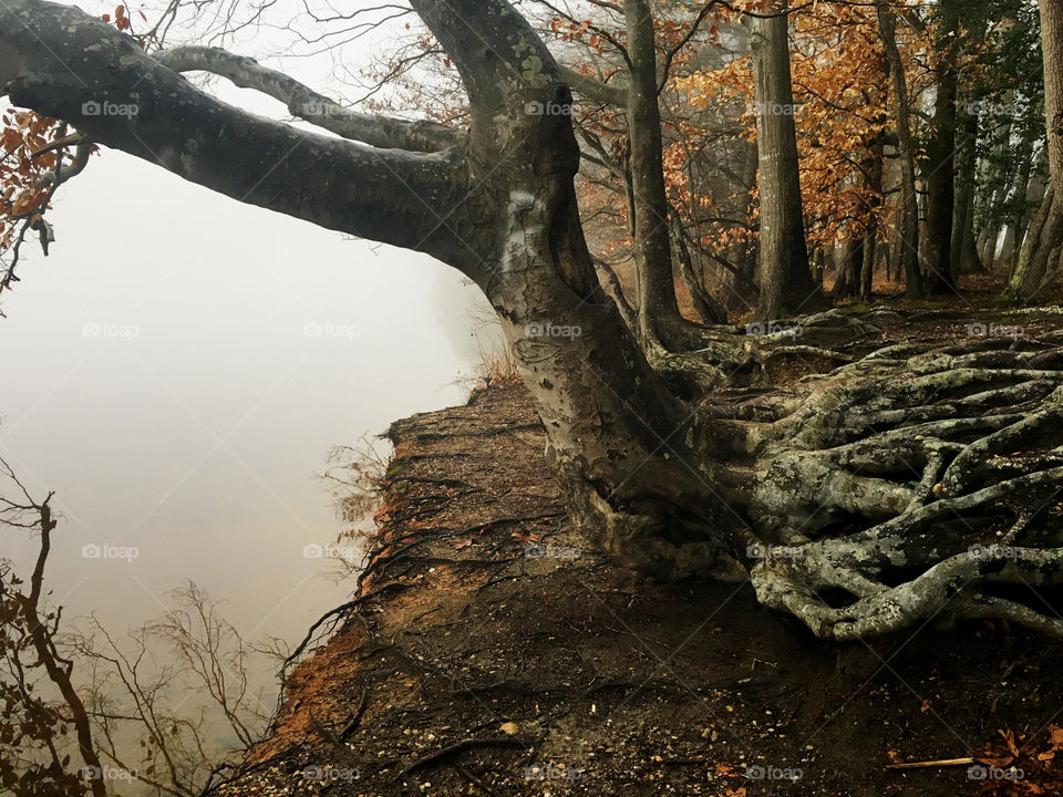
<svg viewBox="0 0 1063 797"><path fill-rule="evenodd" d="M890 345L734 407L744 464L716 475L756 529L760 601L837 640L974 619L1063 635L1033 591L1063 584L1060 342Z"/></svg>

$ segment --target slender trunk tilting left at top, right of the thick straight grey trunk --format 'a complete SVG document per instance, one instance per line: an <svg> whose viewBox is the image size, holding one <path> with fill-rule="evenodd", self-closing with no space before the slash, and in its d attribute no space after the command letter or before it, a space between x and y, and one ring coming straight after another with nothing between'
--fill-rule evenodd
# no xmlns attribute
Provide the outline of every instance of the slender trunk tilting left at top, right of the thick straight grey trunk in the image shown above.
<svg viewBox="0 0 1063 797"><path fill-rule="evenodd" d="M894 108L897 116L897 151L900 155L900 244L898 271L905 275L905 294L922 296L919 270L919 195L916 193L916 145L911 135L911 108L908 101L908 77L897 48L897 23L888 3L878 7L878 24L886 49L886 61L892 82Z"/></svg>

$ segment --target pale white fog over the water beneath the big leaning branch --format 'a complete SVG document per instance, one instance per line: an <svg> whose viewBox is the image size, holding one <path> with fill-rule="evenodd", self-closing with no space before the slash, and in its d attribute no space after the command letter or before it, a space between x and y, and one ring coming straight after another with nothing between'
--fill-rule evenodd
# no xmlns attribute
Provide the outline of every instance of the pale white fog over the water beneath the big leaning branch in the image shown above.
<svg viewBox="0 0 1063 797"><path fill-rule="evenodd" d="M0 456L55 490L53 602L123 631L192 579L241 633L301 638L352 587L303 556L344 528L327 452L463 401L478 292L111 151L49 218L2 306Z"/></svg>

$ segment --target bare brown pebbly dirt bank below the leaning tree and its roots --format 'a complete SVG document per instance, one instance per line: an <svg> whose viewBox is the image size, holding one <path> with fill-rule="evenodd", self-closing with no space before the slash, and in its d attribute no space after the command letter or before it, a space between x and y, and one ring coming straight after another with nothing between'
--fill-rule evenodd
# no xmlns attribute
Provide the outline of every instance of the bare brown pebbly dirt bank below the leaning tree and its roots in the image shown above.
<svg viewBox="0 0 1063 797"><path fill-rule="evenodd" d="M928 303L886 333L1063 325L968 287L954 313ZM647 583L582 548L520 384L389 436L353 611L219 794L1063 793L1063 641L983 622L828 643L747 584ZM980 768L890 767L968 757Z"/></svg>

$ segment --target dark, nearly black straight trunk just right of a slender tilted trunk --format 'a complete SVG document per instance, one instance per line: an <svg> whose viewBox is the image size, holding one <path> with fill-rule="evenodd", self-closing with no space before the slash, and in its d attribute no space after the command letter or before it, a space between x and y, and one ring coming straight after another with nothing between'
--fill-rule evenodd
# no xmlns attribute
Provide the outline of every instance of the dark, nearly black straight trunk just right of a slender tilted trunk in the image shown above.
<svg viewBox="0 0 1063 797"><path fill-rule="evenodd" d="M927 291L957 292L952 271L952 221L956 206L956 100L958 76L954 63L956 35L960 28L957 0L945 0L939 38L940 64L933 102L933 134L927 143L927 248L923 255Z"/></svg>

